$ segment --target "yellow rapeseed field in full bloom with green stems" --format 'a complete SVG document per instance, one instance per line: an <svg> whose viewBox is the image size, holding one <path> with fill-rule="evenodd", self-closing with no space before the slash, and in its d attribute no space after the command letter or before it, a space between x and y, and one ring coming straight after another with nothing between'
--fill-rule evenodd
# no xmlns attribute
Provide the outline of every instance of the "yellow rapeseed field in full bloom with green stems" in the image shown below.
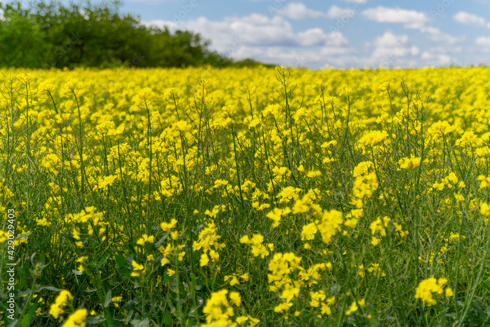
<svg viewBox="0 0 490 327"><path fill-rule="evenodd" d="M490 324L490 69L1 79L2 326Z"/></svg>

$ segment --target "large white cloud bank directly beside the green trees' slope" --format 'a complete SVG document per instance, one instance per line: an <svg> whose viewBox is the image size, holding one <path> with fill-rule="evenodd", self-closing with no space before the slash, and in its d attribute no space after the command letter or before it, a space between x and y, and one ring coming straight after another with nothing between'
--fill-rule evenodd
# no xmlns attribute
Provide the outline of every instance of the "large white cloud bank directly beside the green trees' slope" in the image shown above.
<svg viewBox="0 0 490 327"><path fill-rule="evenodd" d="M194 30L212 40L212 50L236 59L251 57L263 62L319 68L330 59L340 66L345 56L352 57L355 51L340 31L326 32L319 27L296 31L280 16L252 14L222 21L199 17L178 25L162 20L143 23L169 26L171 31L177 27Z"/></svg>

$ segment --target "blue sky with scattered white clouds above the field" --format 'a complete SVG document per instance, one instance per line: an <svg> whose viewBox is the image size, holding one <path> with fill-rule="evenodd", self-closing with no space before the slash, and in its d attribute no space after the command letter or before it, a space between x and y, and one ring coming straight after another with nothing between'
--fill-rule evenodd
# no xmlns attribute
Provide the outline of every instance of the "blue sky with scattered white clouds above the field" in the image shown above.
<svg viewBox="0 0 490 327"><path fill-rule="evenodd" d="M490 0L125 0L237 59L322 69L490 65Z"/></svg>

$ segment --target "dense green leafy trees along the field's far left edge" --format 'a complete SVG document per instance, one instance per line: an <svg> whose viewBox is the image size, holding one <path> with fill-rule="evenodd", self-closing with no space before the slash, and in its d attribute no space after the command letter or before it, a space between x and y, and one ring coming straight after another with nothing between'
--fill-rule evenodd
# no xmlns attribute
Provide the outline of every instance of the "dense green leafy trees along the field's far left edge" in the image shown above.
<svg viewBox="0 0 490 327"><path fill-rule="evenodd" d="M199 33L147 27L121 2L0 4L0 66L26 68L233 65ZM242 65L242 63L240 64Z"/></svg>

